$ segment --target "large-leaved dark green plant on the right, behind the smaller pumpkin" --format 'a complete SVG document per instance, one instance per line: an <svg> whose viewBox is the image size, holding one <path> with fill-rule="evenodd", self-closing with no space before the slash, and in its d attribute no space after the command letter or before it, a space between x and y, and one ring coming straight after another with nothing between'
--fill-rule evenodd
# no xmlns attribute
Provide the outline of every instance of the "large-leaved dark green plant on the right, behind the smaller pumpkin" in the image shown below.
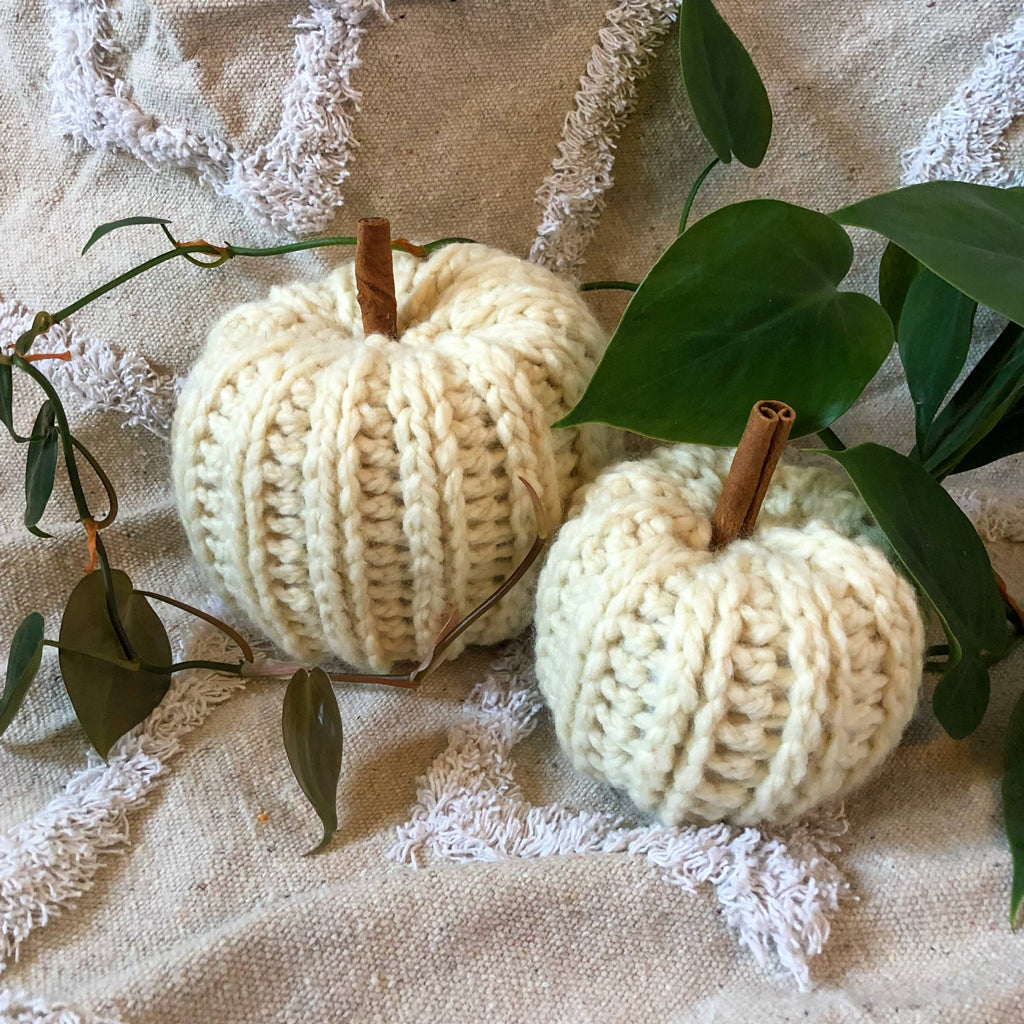
<svg viewBox="0 0 1024 1024"><path fill-rule="evenodd" d="M752 402L768 394L792 406L794 436L819 436L941 623L947 643L930 651L928 666L940 675L933 707L962 739L988 708L989 668L1024 634L981 539L941 485L1024 451L1024 188L934 181L828 215L761 199L687 226L716 162L759 164L772 122L760 75L711 0L682 0L680 60L716 159L559 425L600 421L662 440L732 445ZM881 303L840 287L853 262L847 226L889 240ZM979 304L1009 323L949 395ZM830 425L894 343L916 443L905 455L876 443L847 449ZM1013 922L1024 901L1024 696L1007 727L1002 793Z"/></svg>

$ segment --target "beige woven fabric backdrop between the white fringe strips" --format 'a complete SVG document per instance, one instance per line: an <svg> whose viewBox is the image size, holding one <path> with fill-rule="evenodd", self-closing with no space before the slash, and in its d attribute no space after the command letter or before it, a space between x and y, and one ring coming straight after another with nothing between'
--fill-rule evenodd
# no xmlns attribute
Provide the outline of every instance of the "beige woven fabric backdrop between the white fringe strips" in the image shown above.
<svg viewBox="0 0 1024 1024"><path fill-rule="evenodd" d="M1017 0L720 6L768 79L777 128L763 169L716 171L698 214L763 194L827 209L895 184L899 153L1020 8ZM358 216L387 213L396 233L465 234L525 254L539 218L532 191L548 173L604 8L605 0L389 3L392 23L374 22L360 51L361 144L332 228L350 233ZM287 26L306 10L299 2L134 0L124 6L130 76L148 104L255 143L280 123ZM270 240L184 172L157 174L130 157L75 152L50 137L47 35L41 0L0 9L0 296L53 308L162 248L159 236L134 229L80 259L92 227L117 217L170 216L183 238ZM671 239L706 162L671 47L670 37L620 140L618 183L589 250L588 278L642 273ZM77 322L182 374L223 311L271 284L318 275L339 258L236 261L215 272L181 262ZM609 325L621 305L610 295L594 301ZM112 415L76 414L76 423L116 470L124 512L110 546L118 563L151 588L201 594L172 511L166 446L123 431ZM905 439L908 423L904 392L889 374L838 429L851 440ZM33 608L55 631L84 546L79 531L59 525L57 541L26 536L20 456L7 444L2 452L3 494L12 499L0 511L2 635ZM1012 460L975 482L1019 501L1021 471ZM48 521L59 523L60 511ZM62 511L68 520L67 505ZM1021 593L1019 552L992 547ZM993 713L977 735L953 743L926 707L883 774L850 801L843 864L858 899L837 919L809 994L756 969L702 895L682 895L625 856L420 872L385 860L415 776L443 749L485 664L467 654L416 696L342 693L343 836L309 860L300 854L314 822L278 738L280 688L249 687L189 735L165 782L131 817L130 853L28 939L0 987L130 1024L1021 1018L1024 961L1006 922L997 782L997 723L1019 688L1020 655L996 674ZM550 728L517 757L531 799L626 810L569 771ZM48 658L0 742L0 827L31 816L86 758Z"/></svg>

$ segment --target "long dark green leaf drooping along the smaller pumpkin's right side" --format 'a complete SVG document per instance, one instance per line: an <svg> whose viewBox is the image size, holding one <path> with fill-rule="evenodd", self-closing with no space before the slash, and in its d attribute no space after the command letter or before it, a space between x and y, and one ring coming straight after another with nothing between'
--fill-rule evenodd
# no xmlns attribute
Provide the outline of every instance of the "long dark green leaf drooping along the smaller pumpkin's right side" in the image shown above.
<svg viewBox="0 0 1024 1024"><path fill-rule="evenodd" d="M988 705L986 657L1006 648L1007 620L988 553L970 519L913 459L881 444L826 453L850 474L864 504L949 641L933 703L954 739L977 728Z"/></svg>

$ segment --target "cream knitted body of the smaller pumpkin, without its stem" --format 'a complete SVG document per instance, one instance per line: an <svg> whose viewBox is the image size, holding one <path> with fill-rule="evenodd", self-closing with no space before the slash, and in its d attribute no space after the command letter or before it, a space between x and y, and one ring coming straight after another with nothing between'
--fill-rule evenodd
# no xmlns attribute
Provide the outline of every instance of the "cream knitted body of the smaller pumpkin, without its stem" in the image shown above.
<svg viewBox="0 0 1024 1024"><path fill-rule="evenodd" d="M665 822L788 820L848 793L913 712L913 590L837 474L781 466L753 537L708 550L731 451L602 473L537 592L562 746Z"/></svg>

